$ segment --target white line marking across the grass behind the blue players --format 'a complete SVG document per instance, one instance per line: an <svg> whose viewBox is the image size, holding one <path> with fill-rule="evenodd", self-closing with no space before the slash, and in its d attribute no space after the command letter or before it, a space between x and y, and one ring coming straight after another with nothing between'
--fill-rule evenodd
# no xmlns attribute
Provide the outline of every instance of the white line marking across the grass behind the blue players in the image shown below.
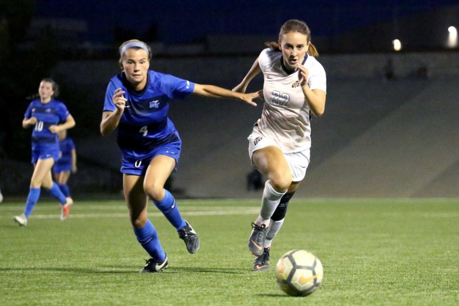
<svg viewBox="0 0 459 306"><path fill-rule="evenodd" d="M224 210L224 211L197 211L197 212L181 212L182 216L219 216L219 215L251 215L260 213L259 208L250 209L242 208L241 210ZM148 213L148 216L160 217L162 213ZM58 219L60 215L34 215L32 214L31 219ZM0 216L0 218L10 218L10 216ZM11 217L12 218L12 217ZM84 218L129 218L129 214L126 213L114 213L114 214L72 214L68 218L84 219Z"/></svg>

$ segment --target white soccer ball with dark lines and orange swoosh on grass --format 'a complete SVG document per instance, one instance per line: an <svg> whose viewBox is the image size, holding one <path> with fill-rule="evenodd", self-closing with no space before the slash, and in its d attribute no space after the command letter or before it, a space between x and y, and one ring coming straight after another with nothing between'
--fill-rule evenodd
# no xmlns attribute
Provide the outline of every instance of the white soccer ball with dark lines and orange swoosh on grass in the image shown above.
<svg viewBox="0 0 459 306"><path fill-rule="evenodd" d="M292 296L310 295L322 284L322 263L313 253L292 250L277 262L276 278L285 293Z"/></svg>

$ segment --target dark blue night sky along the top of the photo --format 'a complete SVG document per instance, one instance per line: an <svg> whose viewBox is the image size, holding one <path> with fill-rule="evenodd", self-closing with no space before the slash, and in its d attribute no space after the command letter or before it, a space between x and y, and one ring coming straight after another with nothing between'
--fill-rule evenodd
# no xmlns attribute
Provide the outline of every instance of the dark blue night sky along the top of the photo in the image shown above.
<svg viewBox="0 0 459 306"><path fill-rule="evenodd" d="M86 20L89 31L84 39L92 42L112 42L117 29L135 36L152 38L148 37L150 35L167 43L177 43L210 34L272 35L278 32L280 24L291 18L305 20L313 35L337 35L459 2L37 0L36 3L37 16Z"/></svg>

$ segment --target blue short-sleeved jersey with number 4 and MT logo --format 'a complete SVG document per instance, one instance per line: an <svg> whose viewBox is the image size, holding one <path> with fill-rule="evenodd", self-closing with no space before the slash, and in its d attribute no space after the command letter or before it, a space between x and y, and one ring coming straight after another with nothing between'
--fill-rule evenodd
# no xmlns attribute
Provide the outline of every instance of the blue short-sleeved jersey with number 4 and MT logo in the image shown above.
<svg viewBox="0 0 459 306"><path fill-rule="evenodd" d="M124 157L142 159L167 143L180 141L172 121L167 117L169 99L185 98L194 83L148 70L147 84L141 91L131 90L124 72L110 80L105 95L104 111L116 110L114 92L121 88L127 99L118 124L118 145Z"/></svg>

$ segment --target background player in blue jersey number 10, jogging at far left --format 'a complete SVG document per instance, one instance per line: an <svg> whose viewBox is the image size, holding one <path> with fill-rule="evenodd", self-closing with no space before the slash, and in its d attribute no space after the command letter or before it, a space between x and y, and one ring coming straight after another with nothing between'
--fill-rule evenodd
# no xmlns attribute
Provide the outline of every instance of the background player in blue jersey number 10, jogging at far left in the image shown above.
<svg viewBox="0 0 459 306"><path fill-rule="evenodd" d="M59 159L59 143L57 133L70 129L75 125L67 107L55 99L58 95L57 84L52 79L43 79L38 88L40 98L33 100L25 111L22 127L32 130L32 164L34 173L30 182L29 196L25 202L24 212L14 217L21 226L27 225L35 203L40 197L40 187L48 189L61 202L61 219L64 209L72 202L65 198L59 186L53 182L51 168Z"/></svg>

